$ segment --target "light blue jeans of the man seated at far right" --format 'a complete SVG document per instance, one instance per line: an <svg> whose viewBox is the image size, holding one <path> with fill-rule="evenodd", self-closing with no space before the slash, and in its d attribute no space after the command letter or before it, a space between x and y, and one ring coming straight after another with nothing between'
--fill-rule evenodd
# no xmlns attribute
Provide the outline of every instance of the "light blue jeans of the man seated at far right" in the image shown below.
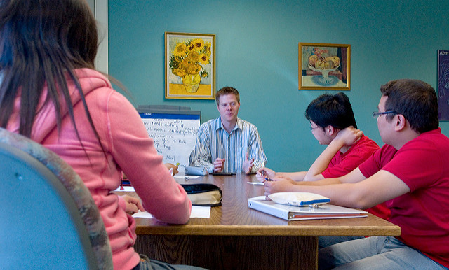
<svg viewBox="0 0 449 270"><path fill-rule="evenodd" d="M393 236L371 236L319 250L319 269L448 269Z"/></svg>

